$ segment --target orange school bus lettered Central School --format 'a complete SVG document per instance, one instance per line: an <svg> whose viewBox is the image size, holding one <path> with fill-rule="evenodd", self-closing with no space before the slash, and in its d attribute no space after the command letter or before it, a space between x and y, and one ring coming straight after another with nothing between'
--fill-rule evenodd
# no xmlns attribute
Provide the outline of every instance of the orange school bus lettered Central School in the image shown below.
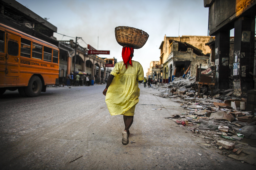
<svg viewBox="0 0 256 170"><path fill-rule="evenodd" d="M59 49L0 23L0 95L6 89L35 97L59 76Z"/></svg>

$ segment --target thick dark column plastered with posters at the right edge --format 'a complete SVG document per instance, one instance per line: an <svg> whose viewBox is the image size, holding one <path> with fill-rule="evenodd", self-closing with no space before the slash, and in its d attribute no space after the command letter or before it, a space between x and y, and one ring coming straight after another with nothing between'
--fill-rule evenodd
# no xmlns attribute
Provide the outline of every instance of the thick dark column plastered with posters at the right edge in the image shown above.
<svg viewBox="0 0 256 170"><path fill-rule="evenodd" d="M255 16L239 18L234 27L234 95L240 97L242 92L254 87L253 76L249 72L253 72Z"/></svg>

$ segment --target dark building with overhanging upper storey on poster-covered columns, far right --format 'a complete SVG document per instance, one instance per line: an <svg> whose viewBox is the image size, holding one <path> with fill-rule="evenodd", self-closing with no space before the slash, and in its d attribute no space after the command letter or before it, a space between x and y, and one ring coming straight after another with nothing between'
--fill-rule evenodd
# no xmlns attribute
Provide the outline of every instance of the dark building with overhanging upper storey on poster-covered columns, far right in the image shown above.
<svg viewBox="0 0 256 170"><path fill-rule="evenodd" d="M255 88L256 1L204 0L204 6L209 8L209 35L215 36L212 48L212 62L217 71L215 88L229 89L232 77L234 95L241 97ZM234 29L233 42L231 29Z"/></svg>

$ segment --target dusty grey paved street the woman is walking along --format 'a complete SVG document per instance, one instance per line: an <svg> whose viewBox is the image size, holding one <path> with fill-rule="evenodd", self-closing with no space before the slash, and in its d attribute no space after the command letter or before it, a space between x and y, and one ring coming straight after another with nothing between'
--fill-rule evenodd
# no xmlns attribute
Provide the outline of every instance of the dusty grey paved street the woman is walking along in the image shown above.
<svg viewBox="0 0 256 170"><path fill-rule="evenodd" d="M104 87L49 87L34 98L7 91L0 98L0 169L255 169L200 147L203 140L187 127L164 119L184 112L179 103L143 84L122 145L123 117L109 114Z"/></svg>

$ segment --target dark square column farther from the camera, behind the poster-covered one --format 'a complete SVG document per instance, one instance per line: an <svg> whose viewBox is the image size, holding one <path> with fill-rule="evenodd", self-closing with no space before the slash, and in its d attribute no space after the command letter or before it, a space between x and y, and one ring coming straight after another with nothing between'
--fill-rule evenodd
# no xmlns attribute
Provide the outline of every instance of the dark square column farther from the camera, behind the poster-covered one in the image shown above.
<svg viewBox="0 0 256 170"><path fill-rule="evenodd" d="M215 87L219 89L229 88L229 40L230 31L221 31L215 35Z"/></svg>

